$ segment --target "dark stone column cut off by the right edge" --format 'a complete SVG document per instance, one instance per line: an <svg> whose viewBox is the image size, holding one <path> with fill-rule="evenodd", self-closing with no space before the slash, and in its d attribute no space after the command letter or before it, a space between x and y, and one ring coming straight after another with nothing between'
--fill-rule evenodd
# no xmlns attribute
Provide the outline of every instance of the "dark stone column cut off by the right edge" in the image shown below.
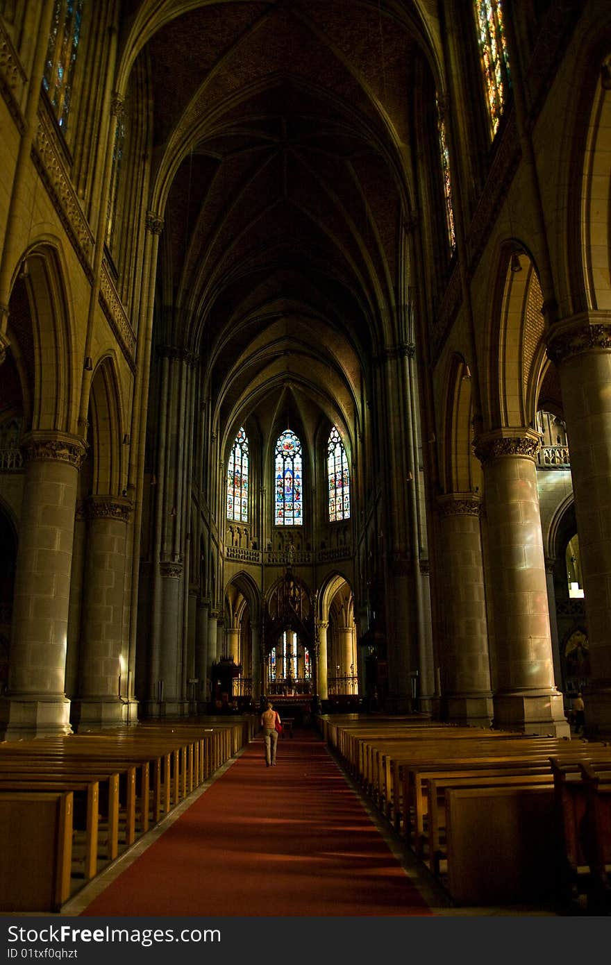
<svg viewBox="0 0 611 965"><path fill-rule="evenodd" d="M611 733L611 312L556 323L547 354L558 367L569 436L570 475L592 676L586 724Z"/></svg>

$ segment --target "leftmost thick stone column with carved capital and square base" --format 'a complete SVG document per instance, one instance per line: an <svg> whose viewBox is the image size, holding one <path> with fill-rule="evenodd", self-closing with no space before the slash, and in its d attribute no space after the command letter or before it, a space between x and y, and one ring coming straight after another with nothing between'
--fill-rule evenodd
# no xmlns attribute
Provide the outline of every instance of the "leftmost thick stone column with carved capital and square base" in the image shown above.
<svg viewBox="0 0 611 965"><path fill-rule="evenodd" d="M70 733L65 694L76 486L85 447L76 436L35 431L26 458L14 582L7 695L0 737Z"/></svg>

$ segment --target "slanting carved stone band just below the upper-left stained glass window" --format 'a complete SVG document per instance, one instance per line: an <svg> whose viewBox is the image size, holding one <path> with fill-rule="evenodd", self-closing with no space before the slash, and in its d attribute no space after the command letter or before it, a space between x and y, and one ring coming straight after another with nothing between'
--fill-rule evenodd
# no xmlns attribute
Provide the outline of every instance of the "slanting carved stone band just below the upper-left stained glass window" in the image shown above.
<svg viewBox="0 0 611 965"><path fill-rule="evenodd" d="M32 158L42 178L44 187L58 212L64 228L87 278L93 281L91 254L94 235L80 207L69 174L54 144L50 121L45 111L39 110L38 124L32 145Z"/></svg>

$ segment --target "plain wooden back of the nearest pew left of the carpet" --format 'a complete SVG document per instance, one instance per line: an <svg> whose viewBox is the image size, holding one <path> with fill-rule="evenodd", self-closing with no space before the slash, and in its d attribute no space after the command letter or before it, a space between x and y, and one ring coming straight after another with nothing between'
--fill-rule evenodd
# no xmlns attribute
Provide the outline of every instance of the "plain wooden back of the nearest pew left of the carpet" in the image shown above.
<svg viewBox="0 0 611 965"><path fill-rule="evenodd" d="M70 894L71 791L0 791L3 912L58 911Z"/></svg>

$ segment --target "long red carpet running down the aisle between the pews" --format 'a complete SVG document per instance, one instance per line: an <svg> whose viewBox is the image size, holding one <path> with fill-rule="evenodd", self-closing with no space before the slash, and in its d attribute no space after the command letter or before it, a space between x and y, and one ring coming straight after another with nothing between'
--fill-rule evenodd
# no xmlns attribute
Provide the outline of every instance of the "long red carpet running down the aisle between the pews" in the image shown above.
<svg viewBox="0 0 611 965"><path fill-rule="evenodd" d="M82 915L430 915L318 734L262 736Z"/></svg>

